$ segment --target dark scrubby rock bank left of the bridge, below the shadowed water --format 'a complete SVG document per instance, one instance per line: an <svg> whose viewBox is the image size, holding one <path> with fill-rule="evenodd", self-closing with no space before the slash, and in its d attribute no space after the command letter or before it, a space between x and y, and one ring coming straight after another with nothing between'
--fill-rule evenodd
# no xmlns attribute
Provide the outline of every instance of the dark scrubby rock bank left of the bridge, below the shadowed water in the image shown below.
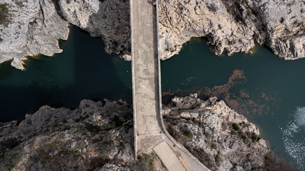
<svg viewBox="0 0 305 171"><path fill-rule="evenodd" d="M0 149L20 150L13 170L130 170L121 164L134 162L132 118L123 101L83 100L75 110L43 106L19 125L0 123Z"/></svg>

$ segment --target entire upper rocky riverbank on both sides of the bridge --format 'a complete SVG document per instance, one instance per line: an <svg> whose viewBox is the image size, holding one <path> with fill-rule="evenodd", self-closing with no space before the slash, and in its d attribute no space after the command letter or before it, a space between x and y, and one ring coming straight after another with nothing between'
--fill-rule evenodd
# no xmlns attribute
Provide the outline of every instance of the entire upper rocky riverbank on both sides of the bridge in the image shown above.
<svg viewBox="0 0 305 171"><path fill-rule="evenodd" d="M58 39L67 39L72 23L101 37L107 53L130 56L129 1L115 0L0 0L8 15L0 24L0 63L23 69L25 56L61 53ZM206 36L215 54L252 53L266 44L285 60L305 56L302 1L160 0L160 58L179 53L191 37Z"/></svg>

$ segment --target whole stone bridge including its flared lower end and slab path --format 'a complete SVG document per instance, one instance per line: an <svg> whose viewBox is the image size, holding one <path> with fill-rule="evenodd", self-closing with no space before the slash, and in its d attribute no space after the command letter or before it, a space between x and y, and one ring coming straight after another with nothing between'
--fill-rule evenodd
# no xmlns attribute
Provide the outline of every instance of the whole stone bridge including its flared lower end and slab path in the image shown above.
<svg viewBox="0 0 305 171"><path fill-rule="evenodd" d="M154 150L168 170L209 170L178 144L163 124L158 2L130 0L130 19L135 159ZM180 160L174 151L180 153Z"/></svg>

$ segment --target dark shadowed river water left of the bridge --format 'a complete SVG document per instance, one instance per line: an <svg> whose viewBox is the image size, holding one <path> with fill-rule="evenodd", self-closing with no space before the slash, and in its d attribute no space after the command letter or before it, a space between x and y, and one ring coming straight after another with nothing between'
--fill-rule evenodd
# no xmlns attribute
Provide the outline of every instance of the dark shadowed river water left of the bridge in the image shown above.
<svg viewBox="0 0 305 171"><path fill-rule="evenodd" d="M131 62L109 55L102 39L70 28L63 53L25 62L25 71L0 65L0 121L22 120L39 107L76 108L83 99L132 102Z"/></svg>

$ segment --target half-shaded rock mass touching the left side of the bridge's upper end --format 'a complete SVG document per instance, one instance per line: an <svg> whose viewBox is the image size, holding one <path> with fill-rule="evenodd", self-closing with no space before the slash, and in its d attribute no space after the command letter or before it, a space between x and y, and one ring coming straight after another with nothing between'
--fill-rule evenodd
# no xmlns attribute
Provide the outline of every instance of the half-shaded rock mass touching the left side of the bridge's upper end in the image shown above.
<svg viewBox="0 0 305 171"><path fill-rule="evenodd" d="M70 23L102 37L107 53L117 53L131 60L129 1L116 0L60 0L60 10Z"/></svg>

